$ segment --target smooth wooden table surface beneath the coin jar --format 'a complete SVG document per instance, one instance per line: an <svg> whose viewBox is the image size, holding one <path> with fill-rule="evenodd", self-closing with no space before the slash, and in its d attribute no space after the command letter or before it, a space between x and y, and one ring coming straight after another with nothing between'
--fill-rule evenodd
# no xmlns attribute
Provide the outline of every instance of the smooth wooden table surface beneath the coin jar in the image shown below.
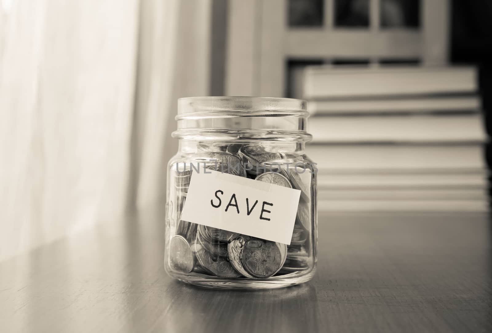
<svg viewBox="0 0 492 333"><path fill-rule="evenodd" d="M0 262L0 332L492 332L485 214L322 215L314 279L254 292L166 276L158 215Z"/></svg>

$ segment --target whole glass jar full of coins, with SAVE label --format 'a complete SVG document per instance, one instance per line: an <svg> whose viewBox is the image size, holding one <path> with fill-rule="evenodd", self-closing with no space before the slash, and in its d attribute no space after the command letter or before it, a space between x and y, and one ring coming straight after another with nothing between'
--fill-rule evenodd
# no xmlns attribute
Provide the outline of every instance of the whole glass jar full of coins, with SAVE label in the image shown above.
<svg viewBox="0 0 492 333"><path fill-rule="evenodd" d="M304 153L305 144L311 139L306 132L307 117L306 102L295 99L192 97L178 101L178 129L173 137L179 138L179 150L169 161L167 170L164 265L170 276L205 287L240 289L277 288L307 282L313 277L317 169ZM191 187L196 185L195 192L206 191L215 184L215 180L206 178L209 175L203 175L201 178L209 185L202 184L199 188L200 172L225 174L217 175L225 177L225 180L218 178L225 181L224 186L235 184L236 180L246 186L237 190L234 198L230 193L219 193L220 190L212 199L203 198L207 205L216 207L221 203L219 195L223 194L220 197L223 204L216 210L221 214L218 217L201 210L201 206L191 206ZM266 201L262 204L260 200L256 207L256 203L252 205L254 198L249 198L250 202L246 199L245 204L240 197L249 193L249 189L255 191L255 187L265 186L279 191L268 192L276 196L273 200L281 197L283 201L284 193L294 197L297 193L299 199L295 199L295 205L276 204L276 213L289 214L282 221L266 217L274 216L270 206L273 204ZM201 200L196 199L200 198L199 193L193 193L193 198ZM185 205L187 199L189 203ZM226 202L229 204L224 211ZM186 216L194 216L193 221L181 220L184 210L190 214ZM234 224L240 218L254 219L253 224L265 222L265 228L245 234L214 225L215 222ZM274 229L271 238L277 239L278 232L286 235L288 241L261 238L275 223L281 226ZM240 230L251 227L244 223L235 225Z"/></svg>

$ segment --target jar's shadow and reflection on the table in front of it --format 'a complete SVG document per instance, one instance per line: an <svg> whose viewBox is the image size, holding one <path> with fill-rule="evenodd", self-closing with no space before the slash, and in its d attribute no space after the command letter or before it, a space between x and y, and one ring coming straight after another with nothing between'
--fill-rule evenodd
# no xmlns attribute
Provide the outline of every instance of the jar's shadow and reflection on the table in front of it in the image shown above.
<svg viewBox="0 0 492 333"><path fill-rule="evenodd" d="M319 303L310 282L279 289L217 290L171 282L173 300L157 327L165 330L217 332L246 329L262 332L319 332ZM166 331L167 332L167 331ZM169 331L171 332L171 331Z"/></svg>

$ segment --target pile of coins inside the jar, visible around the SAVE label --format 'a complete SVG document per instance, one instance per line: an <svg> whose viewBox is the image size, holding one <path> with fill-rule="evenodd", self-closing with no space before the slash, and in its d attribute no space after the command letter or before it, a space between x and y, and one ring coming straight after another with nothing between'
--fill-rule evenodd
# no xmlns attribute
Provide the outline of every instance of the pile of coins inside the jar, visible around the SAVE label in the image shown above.
<svg viewBox="0 0 492 333"><path fill-rule="evenodd" d="M190 163L301 191L290 245L180 220L192 172L171 168L169 267L186 274L267 279L306 271L312 265L313 177L302 155L272 153L250 144L201 144ZM181 159L186 162L185 159ZM289 162L289 163L287 163ZM289 168L290 165L290 168ZM175 202L173 202L175 200ZM234 215L231 214L231 218Z"/></svg>

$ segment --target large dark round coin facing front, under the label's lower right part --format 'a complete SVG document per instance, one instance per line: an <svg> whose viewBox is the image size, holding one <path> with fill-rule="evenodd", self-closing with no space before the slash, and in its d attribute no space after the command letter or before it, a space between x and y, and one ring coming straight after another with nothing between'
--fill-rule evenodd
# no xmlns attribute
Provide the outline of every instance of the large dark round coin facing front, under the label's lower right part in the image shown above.
<svg viewBox="0 0 492 333"><path fill-rule="evenodd" d="M285 244L281 244L285 248ZM280 270L286 258L286 250L280 244L265 239L252 238L246 241L241 254L241 263L255 278L266 279Z"/></svg>

